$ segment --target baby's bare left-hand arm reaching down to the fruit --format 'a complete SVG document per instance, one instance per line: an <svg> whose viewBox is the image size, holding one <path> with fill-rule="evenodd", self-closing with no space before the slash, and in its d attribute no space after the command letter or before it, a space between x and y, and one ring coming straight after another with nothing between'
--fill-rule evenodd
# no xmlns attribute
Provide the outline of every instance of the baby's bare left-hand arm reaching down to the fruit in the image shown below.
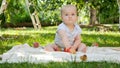
<svg viewBox="0 0 120 68"><path fill-rule="evenodd" d="M66 32L64 30L59 30L58 34L61 36L62 42L65 45L65 48L66 49L70 48L71 45L70 45L70 42L68 40L68 36L67 36Z"/></svg>

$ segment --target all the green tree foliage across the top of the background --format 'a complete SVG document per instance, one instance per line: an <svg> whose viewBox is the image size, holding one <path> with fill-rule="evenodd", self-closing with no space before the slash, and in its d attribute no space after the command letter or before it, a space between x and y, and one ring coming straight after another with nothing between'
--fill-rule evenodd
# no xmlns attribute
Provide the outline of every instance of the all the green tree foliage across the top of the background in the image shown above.
<svg viewBox="0 0 120 68"><path fill-rule="evenodd" d="M4 12L4 23L31 22L26 9L25 0L7 0L8 7ZM89 8L97 10L97 19L100 23L118 23L118 6L116 0L29 0L31 2L30 12L35 10L39 14L42 25L57 25L61 23L60 8L65 4L73 4L78 8L80 21L89 23Z"/></svg>

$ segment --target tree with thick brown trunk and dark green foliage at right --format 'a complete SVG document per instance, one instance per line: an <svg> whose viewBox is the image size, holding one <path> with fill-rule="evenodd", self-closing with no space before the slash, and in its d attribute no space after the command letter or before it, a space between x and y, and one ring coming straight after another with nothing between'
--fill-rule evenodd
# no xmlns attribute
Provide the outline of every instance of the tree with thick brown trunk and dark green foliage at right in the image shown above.
<svg viewBox="0 0 120 68"><path fill-rule="evenodd" d="M108 24L117 20L116 0L87 0L86 3L90 9L90 24Z"/></svg>

